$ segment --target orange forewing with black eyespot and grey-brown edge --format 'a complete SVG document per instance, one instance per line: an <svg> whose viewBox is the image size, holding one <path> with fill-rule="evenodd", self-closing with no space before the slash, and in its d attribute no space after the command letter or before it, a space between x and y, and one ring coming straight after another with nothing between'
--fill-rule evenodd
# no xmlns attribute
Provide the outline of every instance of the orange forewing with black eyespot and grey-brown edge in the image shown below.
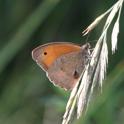
<svg viewBox="0 0 124 124"><path fill-rule="evenodd" d="M44 71L47 71L58 57L80 50L81 47L73 43L52 42L35 48L32 51L32 58Z"/></svg>

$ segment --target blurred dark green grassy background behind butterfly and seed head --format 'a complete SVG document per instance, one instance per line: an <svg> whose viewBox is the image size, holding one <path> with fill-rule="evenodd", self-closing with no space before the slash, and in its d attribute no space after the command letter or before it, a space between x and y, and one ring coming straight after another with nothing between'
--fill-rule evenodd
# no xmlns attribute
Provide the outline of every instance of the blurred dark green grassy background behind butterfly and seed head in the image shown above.
<svg viewBox="0 0 124 124"><path fill-rule="evenodd" d="M82 30L115 2L0 0L0 124L61 123L69 92L49 82L32 60L31 51L52 41L85 43ZM124 124L123 13L118 50L112 55L109 49L103 93L75 124ZM104 21L90 34L90 41L98 39Z"/></svg>

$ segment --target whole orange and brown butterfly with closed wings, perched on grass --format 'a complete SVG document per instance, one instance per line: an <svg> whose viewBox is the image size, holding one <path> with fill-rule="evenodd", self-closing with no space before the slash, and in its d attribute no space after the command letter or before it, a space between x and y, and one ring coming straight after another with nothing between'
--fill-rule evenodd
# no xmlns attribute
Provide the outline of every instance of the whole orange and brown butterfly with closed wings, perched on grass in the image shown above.
<svg viewBox="0 0 124 124"><path fill-rule="evenodd" d="M88 61L89 47L89 43L52 42L35 48L32 58L53 84L72 90Z"/></svg>

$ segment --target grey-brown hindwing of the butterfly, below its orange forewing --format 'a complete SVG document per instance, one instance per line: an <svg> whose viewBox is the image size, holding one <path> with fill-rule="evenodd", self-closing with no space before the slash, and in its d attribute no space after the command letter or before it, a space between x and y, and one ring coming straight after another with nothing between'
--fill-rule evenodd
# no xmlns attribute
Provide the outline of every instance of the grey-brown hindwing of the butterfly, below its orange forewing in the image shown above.
<svg viewBox="0 0 124 124"><path fill-rule="evenodd" d="M71 52L57 58L47 71L50 81L66 90L73 89L85 67L86 53L87 50Z"/></svg>

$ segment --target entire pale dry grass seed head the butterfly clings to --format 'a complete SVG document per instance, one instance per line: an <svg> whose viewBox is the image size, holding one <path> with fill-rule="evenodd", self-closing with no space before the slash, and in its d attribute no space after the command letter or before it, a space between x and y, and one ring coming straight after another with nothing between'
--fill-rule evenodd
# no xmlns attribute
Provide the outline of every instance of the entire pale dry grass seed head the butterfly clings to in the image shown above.
<svg viewBox="0 0 124 124"><path fill-rule="evenodd" d="M119 11L117 21L115 22L112 32L112 51L115 51L117 46L117 36L119 32L119 19L124 0L116 2L108 11L99 16L87 29L84 30L84 35L89 33L101 19L109 13L106 23L103 27L103 32L98 39L96 46L91 54L91 59L82 72L82 75L72 90L69 98L66 112L63 118L62 124L68 124L71 120L74 108L77 106L77 118L79 118L82 112L87 109L87 106L92 98L93 89L98 84L102 89L102 82L105 79L106 68L108 64L108 46L107 46L107 31L113 21L115 15Z"/></svg>

